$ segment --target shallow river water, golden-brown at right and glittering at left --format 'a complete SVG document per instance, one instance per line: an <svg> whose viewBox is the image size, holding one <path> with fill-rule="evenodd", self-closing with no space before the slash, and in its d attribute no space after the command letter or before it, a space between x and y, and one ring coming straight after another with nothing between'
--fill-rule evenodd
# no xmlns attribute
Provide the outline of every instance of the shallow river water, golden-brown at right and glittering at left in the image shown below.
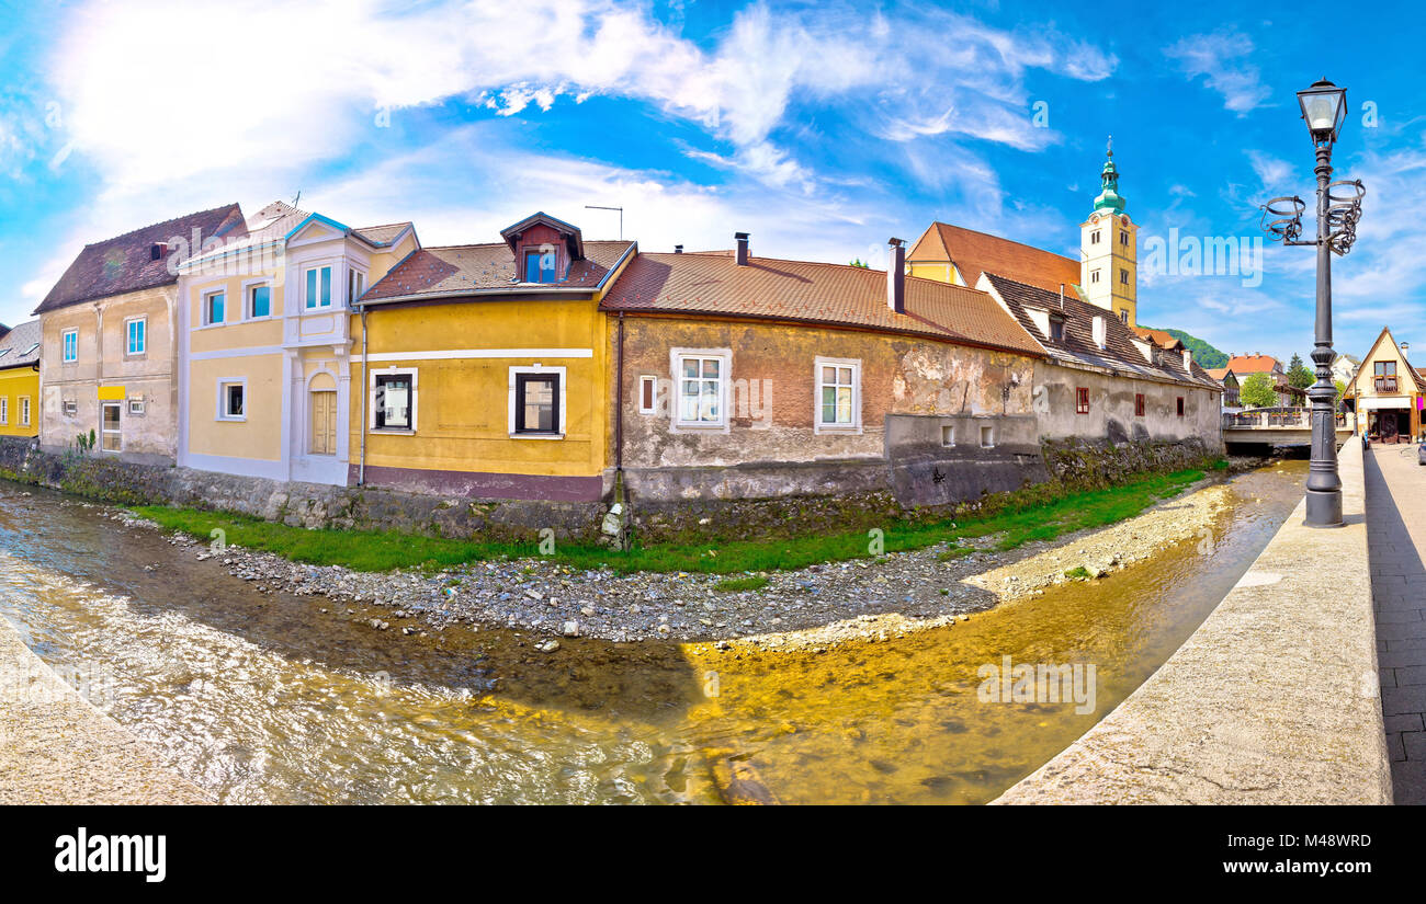
<svg viewBox="0 0 1426 904"><path fill-rule="evenodd" d="M553 655L509 632L376 632L359 605L258 594L104 507L0 481L0 616L224 803L984 803L1192 634L1305 475L1235 477L1211 537L951 628ZM1092 712L983 702L977 669L1002 656L1092 663Z"/></svg>

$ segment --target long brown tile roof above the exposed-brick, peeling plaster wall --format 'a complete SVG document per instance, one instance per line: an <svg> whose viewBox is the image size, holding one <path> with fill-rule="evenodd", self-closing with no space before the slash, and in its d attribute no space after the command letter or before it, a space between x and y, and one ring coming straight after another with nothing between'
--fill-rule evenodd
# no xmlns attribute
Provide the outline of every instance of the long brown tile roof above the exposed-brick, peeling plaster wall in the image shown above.
<svg viewBox="0 0 1426 904"><path fill-rule="evenodd" d="M906 305L901 315L887 306L886 270L773 258L737 266L714 252L640 253L600 309L830 323L1044 354L984 292L908 276Z"/></svg>

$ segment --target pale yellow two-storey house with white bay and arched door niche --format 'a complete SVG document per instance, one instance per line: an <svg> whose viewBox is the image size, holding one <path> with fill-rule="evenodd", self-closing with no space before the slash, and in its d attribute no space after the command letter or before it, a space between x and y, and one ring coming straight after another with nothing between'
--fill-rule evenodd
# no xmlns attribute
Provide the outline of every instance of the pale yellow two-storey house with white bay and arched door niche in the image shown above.
<svg viewBox="0 0 1426 904"><path fill-rule="evenodd" d="M345 485L352 303L419 248L274 202L180 266L178 464Z"/></svg>

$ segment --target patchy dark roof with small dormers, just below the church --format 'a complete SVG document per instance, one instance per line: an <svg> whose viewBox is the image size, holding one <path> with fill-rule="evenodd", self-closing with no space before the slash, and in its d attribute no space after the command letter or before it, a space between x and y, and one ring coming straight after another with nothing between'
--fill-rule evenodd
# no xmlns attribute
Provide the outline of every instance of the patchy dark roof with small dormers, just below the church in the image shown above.
<svg viewBox="0 0 1426 904"><path fill-rule="evenodd" d="M995 293L1014 312L1020 325L1040 340L1040 345L1050 352L1050 357L1052 359L1105 367L1145 379L1174 380L1176 383L1194 383L1196 386L1221 389L1218 382L1208 376L1208 372L1198 362L1192 363L1191 370L1185 370L1184 354L1181 352L1164 350L1159 354L1158 364L1149 362L1139 352L1139 347L1134 345L1138 337L1128 326L1111 312L1085 302L1078 295L1067 292L1064 295L1064 308L1061 308L1058 286L1051 292L1050 289L1030 286L995 273L987 273L987 278ZM1040 327L1035 326L1034 319L1030 316L1031 308L1050 310L1052 316L1062 316L1065 319L1064 339L1055 340L1051 336L1041 336ZM1105 325L1105 347L1102 349L1094 342L1094 319L1097 316L1104 317Z"/></svg>

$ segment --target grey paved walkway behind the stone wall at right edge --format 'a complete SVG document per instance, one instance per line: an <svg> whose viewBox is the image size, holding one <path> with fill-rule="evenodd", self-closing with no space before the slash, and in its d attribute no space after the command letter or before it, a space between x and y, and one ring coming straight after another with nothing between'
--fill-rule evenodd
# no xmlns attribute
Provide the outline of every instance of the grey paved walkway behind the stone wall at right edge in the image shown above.
<svg viewBox="0 0 1426 904"><path fill-rule="evenodd" d="M1415 446L1366 454L1366 513L1396 803L1426 804L1426 467Z"/></svg>

